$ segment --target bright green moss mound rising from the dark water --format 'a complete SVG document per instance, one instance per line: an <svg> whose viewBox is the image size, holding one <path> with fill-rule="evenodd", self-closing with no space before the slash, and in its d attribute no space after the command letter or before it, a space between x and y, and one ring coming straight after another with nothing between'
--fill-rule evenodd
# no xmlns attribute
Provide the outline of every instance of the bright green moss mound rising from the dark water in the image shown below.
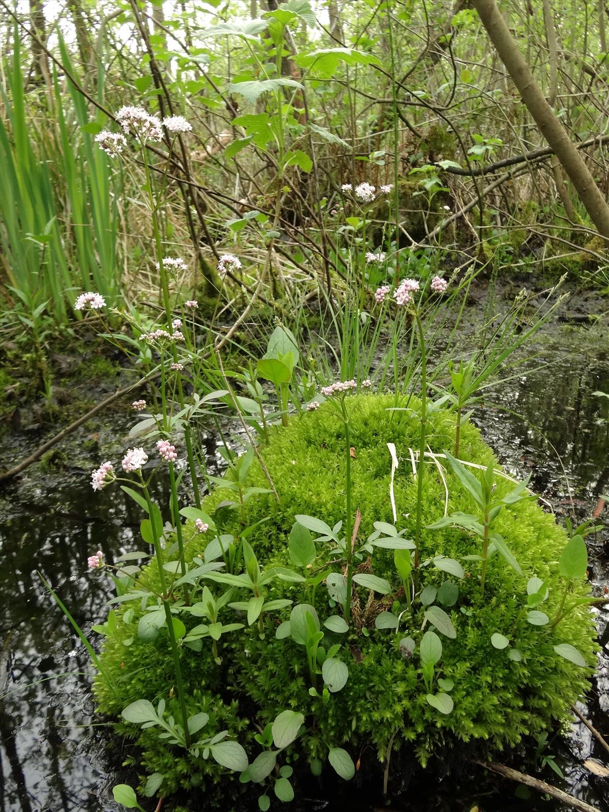
<svg viewBox="0 0 609 812"><path fill-rule="evenodd" d="M373 532L375 521L393 521L387 443L395 443L400 457L400 467L395 473L396 525L405 529L405 538L413 538L417 480L409 449L416 448L418 443L419 403L411 399L408 404L400 404L402 410L393 411L398 405L393 395L354 395L348 404L352 409L352 504L360 508L362 516L358 538L363 542ZM454 447L455 422L450 413L439 410L430 415L428 443L434 453ZM222 503L235 499L235 494L220 487L205 499L204 510L214 517L220 532L235 536L244 526L260 522L248 535L248 542L263 571L278 566L294 570L287 539L296 514L316 516L330 526L345 519L343 423L330 404L322 404L317 412L294 418L287 428L274 429L268 447L261 453L279 501L271 494L256 495L244 503L242 512L227 511ZM494 460L490 448L471 425L461 431L460 458L482 465ZM440 469L431 460L423 491L423 525L430 525L444 515L447 490L448 512L477 512L473 498L459 479L450 470L444 477L446 486ZM507 478L497 475L495 482L498 496L512 490L513 482ZM268 486L256 461L247 484ZM572 702L585 692L594 663L594 624L590 612L585 606L578 607L555 628L551 624L534 626L526 617L530 577L540 578L549 590L540 607L542 611L553 619L559 609L564 581L559 578L558 559L567 541L566 534L533 499L503 508L495 529L508 542L523 575L494 555L488 564L484 594L479 581L480 562L464 559L480 555L479 538L450 526L425 527L421 534L421 560L444 555L457 559L464 568L464 577L458 578L427 564L421 568L419 581L419 590L424 586L439 589L446 581L459 590L454 603L443 605L456 629L456 638L440 635L443 653L435 666L433 689L438 690L438 678L447 680L440 685L454 683L454 687L447 688L454 703L451 712L439 711L427 698L430 691L425 687L418 654L425 606L417 603L411 615L406 612L397 632L375 626L379 613L391 611L394 600L401 602L400 610L393 604L396 614L406 608L393 551L379 548L371 556L364 555L359 572L374 571L374 576L387 579L393 595L383 596L354 584L353 618L348 633L334 633L322 625L325 636L321 645L328 650L340 644L335 657L348 667L348 680L342 689L324 697L320 677L318 691L311 692L304 646L290 636L284 639L275 636L279 624L289 619L291 607L264 615L264 639L256 623L248 626L244 617L235 616L234 609L224 607L221 614L224 624L240 620L245 626L222 635L218 642L222 663L214 662L209 638L203 641L200 652L186 646L182 649L189 711L209 713L209 735L228 729L248 749L250 762L260 752L253 741L256 729L264 728L286 709L298 711L304 715L305 730L288 749L288 758L289 754L292 761L300 756L300 765L309 762L313 768L316 759L327 761L329 747L347 749L354 760L363 750L365 755L361 758L368 762L375 762L375 758L382 762L390 746L394 751L408 748L423 764L430 756L446 754L447 747L462 747L464 742L477 741L478 754L481 745L489 752L496 751L516 745L524 736L542 732L557 719L566 719ZM212 533L192 534L188 560L203 556L212 538ZM327 568L340 571L333 549L335 545L330 542L317 542L311 572ZM236 572L241 570L239 567ZM140 575L139 585L153 584L157 577L153 561ZM204 584L216 597L227 589L223 584L202 581L199 592ZM452 587L445 586L444 590L447 589L454 594ZM585 584L574 583L572 594L585 596ZM250 596L244 590L235 590L231 600L244 601ZM266 587L266 600L282 598L292 600L293 605L313 604L321 624L330 615L340 614L340 607L332 604L323 584L312 590L307 584L271 581ZM195 595L192 599L200 598ZM119 715L124 706L136 699L153 702L167 699L174 682L166 636L161 634L153 642L138 639L134 630L142 614L140 603L132 602L129 607L127 616L126 605L117 609L116 631L106 640L102 653L102 665L114 677L119 696L110 691L101 677L96 682L99 708L111 715ZM201 618L188 612L181 612L179 617L187 629L201 623ZM503 650L495 648L491 643L494 633L507 636L511 645ZM404 645L400 646L404 637L412 637L417 644L412 654ZM590 667L580 667L560 657L555 646L561 643L577 646ZM513 650L518 654L510 654ZM177 718L175 698L169 704ZM201 783L209 789L212 782L226 776L239 787L235 775L211 760L203 761L184 750L168 747L153 731L140 732L125 723L120 723L119 729L138 737L144 750L140 763L147 771L166 775L163 794ZM374 748L370 747L372 744Z"/></svg>

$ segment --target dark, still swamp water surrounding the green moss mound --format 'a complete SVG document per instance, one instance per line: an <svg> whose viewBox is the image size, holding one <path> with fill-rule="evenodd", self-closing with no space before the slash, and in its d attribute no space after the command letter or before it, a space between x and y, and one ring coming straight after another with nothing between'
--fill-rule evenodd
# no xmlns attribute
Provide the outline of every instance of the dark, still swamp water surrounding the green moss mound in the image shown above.
<svg viewBox="0 0 609 812"><path fill-rule="evenodd" d="M473 421L509 473L532 474L533 490L559 521L573 511L583 519L591 516L598 495L609 490L609 400L593 394L609 392L607 333L603 339L598 325L553 326L539 348L542 357L535 363L542 369L533 374L523 370L519 378L500 387L484 408L477 409ZM76 454L77 464L71 464L68 456L61 473L42 473L32 466L19 482L0 491L0 812L119 810L111 788L133 779L121 768L122 742L110 743L103 720L93 714L87 654L38 575L40 571L50 581L85 631L102 620L110 590L105 577L87 571L87 557L99 548L111 561L138 546L140 513L118 488L94 494L90 470L100 460L119 456L130 425L131 415L118 422L113 419L96 431L95 451ZM90 435L90 430L83 430L69 447L77 449ZM34 433L29 448L40 442ZM23 434L6 438L2 464L10 467L23 448ZM212 436L208 452L208 459L217 459ZM158 481L157 487L163 503L164 484ZM594 594L601 595L609 585L607 508L598 523L603 530L588 539L589 574ZM609 738L609 610L605 607L597 615L603 654L586 704L579 710ZM540 759L499 760L516 769L526 765L530 774L599 810L609 810L609 782L583 765L586 759L607 765L607 751L583 724L574 723L566 740L551 737L545 752L555 755L564 780L549 767L542 769ZM415 777L387 809L568 808L537 793L528 799L516 797L516 786L475 767L444 780ZM366 795L356 787L323 787L311 780L304 795L298 812L372 812L384 806L378 788ZM148 801L143 806L153 810L155 804ZM295 805L277 807L296 812Z"/></svg>

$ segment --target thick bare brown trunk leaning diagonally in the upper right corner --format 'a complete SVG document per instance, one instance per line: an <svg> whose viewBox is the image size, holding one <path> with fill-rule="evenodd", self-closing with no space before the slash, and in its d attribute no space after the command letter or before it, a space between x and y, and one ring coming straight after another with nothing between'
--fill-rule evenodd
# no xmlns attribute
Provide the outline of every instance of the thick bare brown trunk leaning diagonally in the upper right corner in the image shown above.
<svg viewBox="0 0 609 812"><path fill-rule="evenodd" d="M527 110L576 188L585 210L590 214L590 219L609 242L609 205L594 183L594 178L590 175L580 153L546 102L494 0L472 0L472 6L482 20L482 25L486 28L490 41L495 45L508 73L512 76Z"/></svg>

